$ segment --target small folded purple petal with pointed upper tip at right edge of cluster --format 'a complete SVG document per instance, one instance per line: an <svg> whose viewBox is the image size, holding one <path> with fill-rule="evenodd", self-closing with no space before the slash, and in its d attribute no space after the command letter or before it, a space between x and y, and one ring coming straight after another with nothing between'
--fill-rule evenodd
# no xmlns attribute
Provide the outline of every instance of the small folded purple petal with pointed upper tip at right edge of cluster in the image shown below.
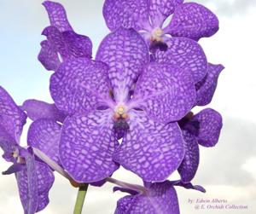
<svg viewBox="0 0 256 214"><path fill-rule="evenodd" d="M222 65L208 64L206 77L195 84L197 106L206 106L212 101L218 84L218 76L222 70L224 70L224 66Z"/></svg>

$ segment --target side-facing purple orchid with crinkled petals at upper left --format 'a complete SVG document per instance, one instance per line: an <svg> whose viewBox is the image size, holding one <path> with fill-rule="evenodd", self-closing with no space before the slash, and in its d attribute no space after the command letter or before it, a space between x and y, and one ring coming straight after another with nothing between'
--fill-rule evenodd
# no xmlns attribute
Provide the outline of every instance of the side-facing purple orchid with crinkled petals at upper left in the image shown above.
<svg viewBox="0 0 256 214"><path fill-rule="evenodd" d="M67 20L67 14L60 3L43 3L49 14L50 26L42 34L47 40L41 43L38 60L47 70L55 71L61 64L72 58L91 58L92 43L90 38L73 31ZM59 57L59 55L61 57Z"/></svg>

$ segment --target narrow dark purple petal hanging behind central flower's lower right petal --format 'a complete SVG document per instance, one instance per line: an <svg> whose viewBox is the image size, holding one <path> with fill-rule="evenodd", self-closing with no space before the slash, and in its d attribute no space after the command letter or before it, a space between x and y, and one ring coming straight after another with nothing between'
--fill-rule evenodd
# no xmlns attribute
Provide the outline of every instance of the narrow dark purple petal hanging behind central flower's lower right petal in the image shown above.
<svg viewBox="0 0 256 214"><path fill-rule="evenodd" d="M188 130L183 130L183 139L185 155L177 171L183 182L190 182L194 178L199 165L199 146L195 136L189 133Z"/></svg>

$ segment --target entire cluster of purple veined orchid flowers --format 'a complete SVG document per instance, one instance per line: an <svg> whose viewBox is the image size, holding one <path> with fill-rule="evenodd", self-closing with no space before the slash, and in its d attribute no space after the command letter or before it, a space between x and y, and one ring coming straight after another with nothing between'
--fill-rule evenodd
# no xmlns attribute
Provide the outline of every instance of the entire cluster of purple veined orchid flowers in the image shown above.
<svg viewBox="0 0 256 214"><path fill-rule="evenodd" d="M114 191L129 195L115 214L178 214L175 186L205 192L191 183L199 145L215 146L222 128L215 110L192 113L212 101L224 69L208 63L197 43L218 32L218 18L183 0L106 0L111 32L92 60L90 38L73 31L61 4L44 7L50 26L38 60L53 71L54 104L27 100L18 107L0 88L0 147L13 163L3 174L15 173L25 213L49 203L58 171L74 186L119 185ZM33 122L27 147L20 147L26 117ZM119 166L144 186L113 179ZM174 171L180 180L168 181Z"/></svg>

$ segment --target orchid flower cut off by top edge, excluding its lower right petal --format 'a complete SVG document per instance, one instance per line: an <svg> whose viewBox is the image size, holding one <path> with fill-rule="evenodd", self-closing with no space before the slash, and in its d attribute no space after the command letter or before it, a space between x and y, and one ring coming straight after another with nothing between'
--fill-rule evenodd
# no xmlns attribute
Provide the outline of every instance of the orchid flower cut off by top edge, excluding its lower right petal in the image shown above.
<svg viewBox="0 0 256 214"><path fill-rule="evenodd" d="M106 0L103 15L108 28L120 26L134 28L150 46L151 50L166 50L166 41L171 37L211 37L218 32L218 18L198 3L183 3L183 0ZM167 26L165 20L172 16ZM172 38L171 38L172 40Z"/></svg>

